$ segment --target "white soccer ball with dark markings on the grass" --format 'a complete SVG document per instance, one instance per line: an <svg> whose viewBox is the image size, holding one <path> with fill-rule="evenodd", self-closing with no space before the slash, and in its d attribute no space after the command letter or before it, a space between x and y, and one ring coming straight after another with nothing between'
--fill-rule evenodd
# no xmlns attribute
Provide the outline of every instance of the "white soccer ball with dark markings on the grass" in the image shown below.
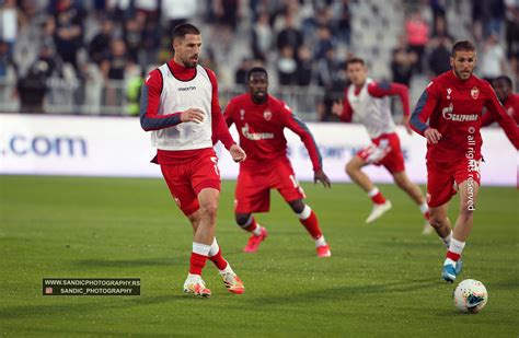
<svg viewBox="0 0 519 338"><path fill-rule="evenodd" d="M480 312L488 301L485 285L475 279L462 280L455 288L453 296L458 311L468 313Z"/></svg>

